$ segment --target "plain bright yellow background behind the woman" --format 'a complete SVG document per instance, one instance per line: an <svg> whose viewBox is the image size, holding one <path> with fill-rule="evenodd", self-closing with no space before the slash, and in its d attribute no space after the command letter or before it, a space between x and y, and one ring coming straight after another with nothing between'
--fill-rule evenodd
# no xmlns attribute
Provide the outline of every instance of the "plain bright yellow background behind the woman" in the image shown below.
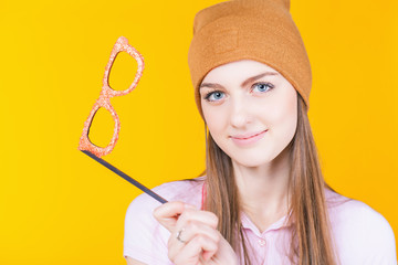
<svg viewBox="0 0 398 265"><path fill-rule="evenodd" d="M1 1L0 264L125 264L125 212L142 192L77 150L121 35L146 67L112 99L122 129L104 159L149 188L202 171L187 51L195 13L216 2ZM325 178L398 235L397 1L293 0L291 12L312 63ZM100 141L113 130L105 117Z"/></svg>

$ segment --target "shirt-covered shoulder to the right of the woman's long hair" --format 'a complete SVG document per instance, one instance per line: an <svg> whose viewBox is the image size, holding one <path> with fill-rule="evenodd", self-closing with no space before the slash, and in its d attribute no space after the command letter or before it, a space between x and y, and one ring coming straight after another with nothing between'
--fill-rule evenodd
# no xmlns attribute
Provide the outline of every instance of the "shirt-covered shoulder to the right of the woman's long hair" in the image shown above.
<svg viewBox="0 0 398 265"><path fill-rule="evenodd" d="M332 232L346 263L396 264L394 231L388 221L368 204L326 191ZM343 263L344 264L344 263ZM359 263L356 263L359 264Z"/></svg>

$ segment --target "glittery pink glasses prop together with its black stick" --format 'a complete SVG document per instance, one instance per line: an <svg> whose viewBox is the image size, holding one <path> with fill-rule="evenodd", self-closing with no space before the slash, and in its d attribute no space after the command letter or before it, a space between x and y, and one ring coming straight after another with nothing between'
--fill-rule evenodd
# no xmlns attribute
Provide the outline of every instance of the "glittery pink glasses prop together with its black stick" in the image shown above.
<svg viewBox="0 0 398 265"><path fill-rule="evenodd" d="M111 72L113 63L115 62L115 57L119 52L127 52L132 57L134 57L137 61L137 64L138 64L137 73L135 74L133 84L125 91L115 91L109 86L109 72ZM137 86L137 83L143 75L143 70L144 70L144 57L137 52L137 50L135 50L132 45L128 44L128 40L126 38L119 36L111 52L109 61L105 67L105 74L104 74L104 78L103 78L103 87L102 87L100 97L95 102L95 104L88 115L88 118L84 123L83 132L80 138L78 150L81 150L82 152L84 152L85 155L87 155L88 157L94 159L95 161L100 162L107 169L112 170L116 174L121 176L122 178L124 178L125 180L127 180L128 182L130 182L132 184L134 184L135 187L137 187L138 189L140 189L142 191L147 193L148 195L150 195L154 199L156 199L157 201L159 201L160 203L165 203L165 202L167 202L167 200L165 200L157 193L153 192L151 190L149 190L148 188L146 188L145 186L143 186L135 179L128 177L126 173L122 172L121 170L118 170L117 168L115 168L114 166L112 166L111 163L108 163L107 161L105 161L104 159L101 158L102 156L108 155L113 150L113 148L115 147L116 141L118 139L118 132L121 130L121 121L118 119L118 116L117 116L115 109L112 107L109 99L115 96L124 96L124 95L127 95L128 93L130 93ZM104 107L106 110L108 110L115 121L113 137L111 139L111 142L105 148L94 145L88 139L90 127L93 123L93 118L94 118L96 112L101 107Z"/></svg>

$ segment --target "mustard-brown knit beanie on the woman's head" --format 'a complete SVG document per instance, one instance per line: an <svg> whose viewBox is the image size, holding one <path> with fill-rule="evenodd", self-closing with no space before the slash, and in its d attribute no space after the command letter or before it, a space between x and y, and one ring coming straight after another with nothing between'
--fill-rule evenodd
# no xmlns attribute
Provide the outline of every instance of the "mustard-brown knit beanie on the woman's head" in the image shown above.
<svg viewBox="0 0 398 265"><path fill-rule="evenodd" d="M290 0L232 0L196 14L188 65L203 120L199 85L212 68L239 60L254 60L276 70L308 109L311 65L290 14Z"/></svg>

